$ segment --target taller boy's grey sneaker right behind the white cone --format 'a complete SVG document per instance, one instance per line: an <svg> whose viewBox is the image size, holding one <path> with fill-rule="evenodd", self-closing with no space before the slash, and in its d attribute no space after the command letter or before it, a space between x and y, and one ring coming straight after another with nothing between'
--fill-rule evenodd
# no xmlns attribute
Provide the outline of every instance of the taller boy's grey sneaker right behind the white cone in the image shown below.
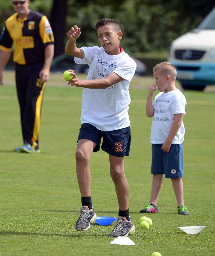
<svg viewBox="0 0 215 256"><path fill-rule="evenodd" d="M109 234L109 236L128 236L135 232L135 226L131 221L126 220L125 217L118 217L117 225Z"/></svg>

